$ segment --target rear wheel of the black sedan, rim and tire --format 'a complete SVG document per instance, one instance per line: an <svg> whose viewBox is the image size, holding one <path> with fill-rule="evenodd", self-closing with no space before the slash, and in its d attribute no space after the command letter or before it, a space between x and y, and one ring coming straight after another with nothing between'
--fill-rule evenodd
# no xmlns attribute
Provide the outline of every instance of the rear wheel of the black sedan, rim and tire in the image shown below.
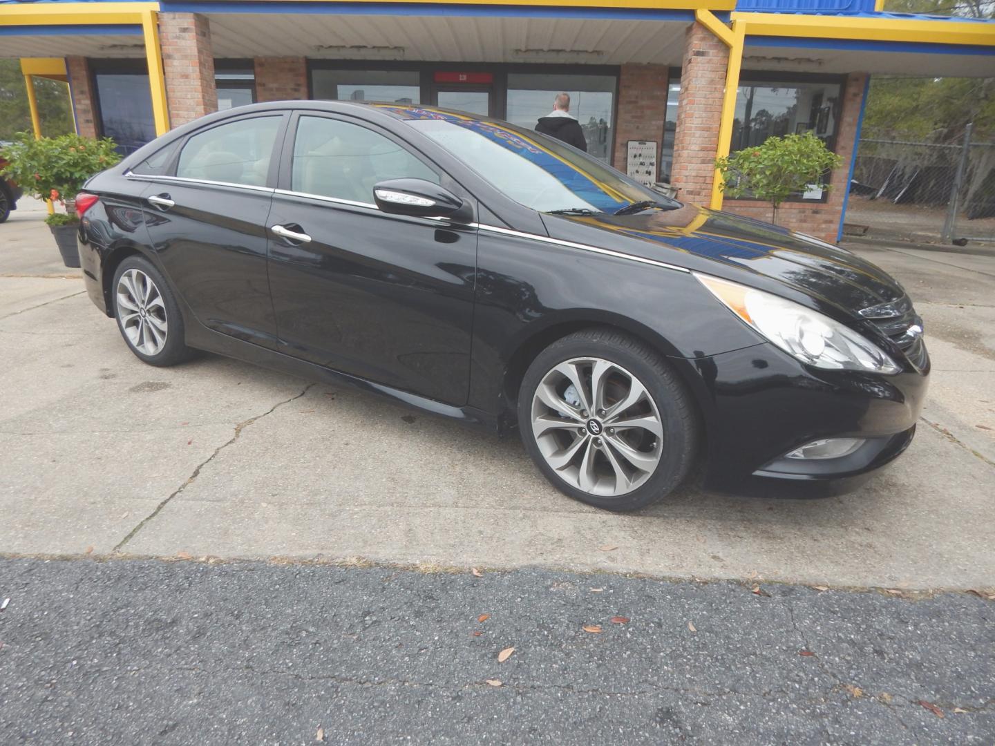
<svg viewBox="0 0 995 746"><path fill-rule="evenodd" d="M127 257L111 285L114 318L125 343L139 360L167 367L186 360L183 315L169 284L144 257ZM138 300L136 301L136 296Z"/></svg>

